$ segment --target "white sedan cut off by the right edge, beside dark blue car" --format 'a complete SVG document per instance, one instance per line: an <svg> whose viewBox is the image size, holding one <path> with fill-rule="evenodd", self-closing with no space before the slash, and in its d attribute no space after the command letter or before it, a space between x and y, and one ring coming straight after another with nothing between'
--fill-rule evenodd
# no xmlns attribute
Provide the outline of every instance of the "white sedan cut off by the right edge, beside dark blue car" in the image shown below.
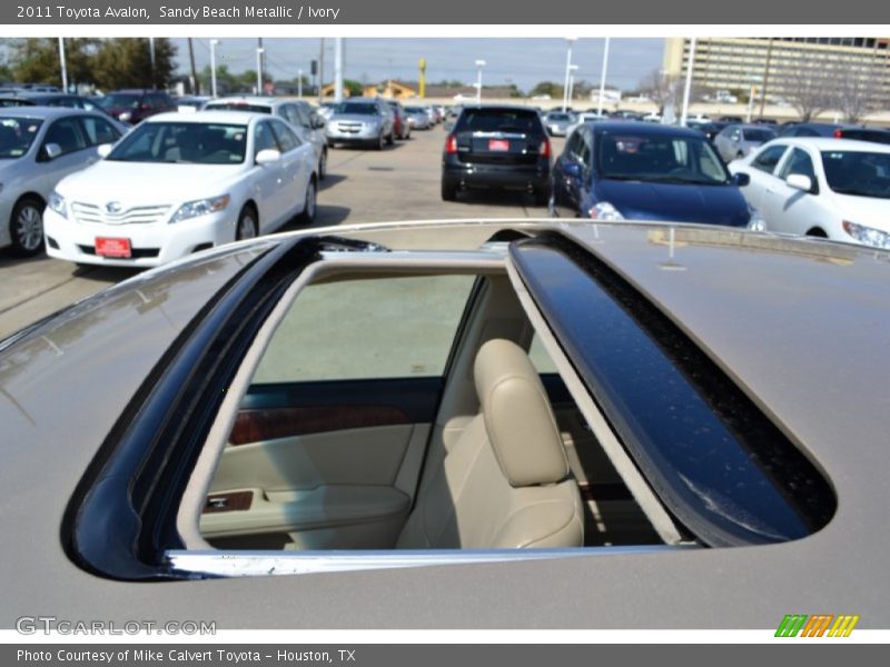
<svg viewBox="0 0 890 667"><path fill-rule="evenodd" d="M890 146L777 139L729 168L770 231L890 249Z"/></svg>

